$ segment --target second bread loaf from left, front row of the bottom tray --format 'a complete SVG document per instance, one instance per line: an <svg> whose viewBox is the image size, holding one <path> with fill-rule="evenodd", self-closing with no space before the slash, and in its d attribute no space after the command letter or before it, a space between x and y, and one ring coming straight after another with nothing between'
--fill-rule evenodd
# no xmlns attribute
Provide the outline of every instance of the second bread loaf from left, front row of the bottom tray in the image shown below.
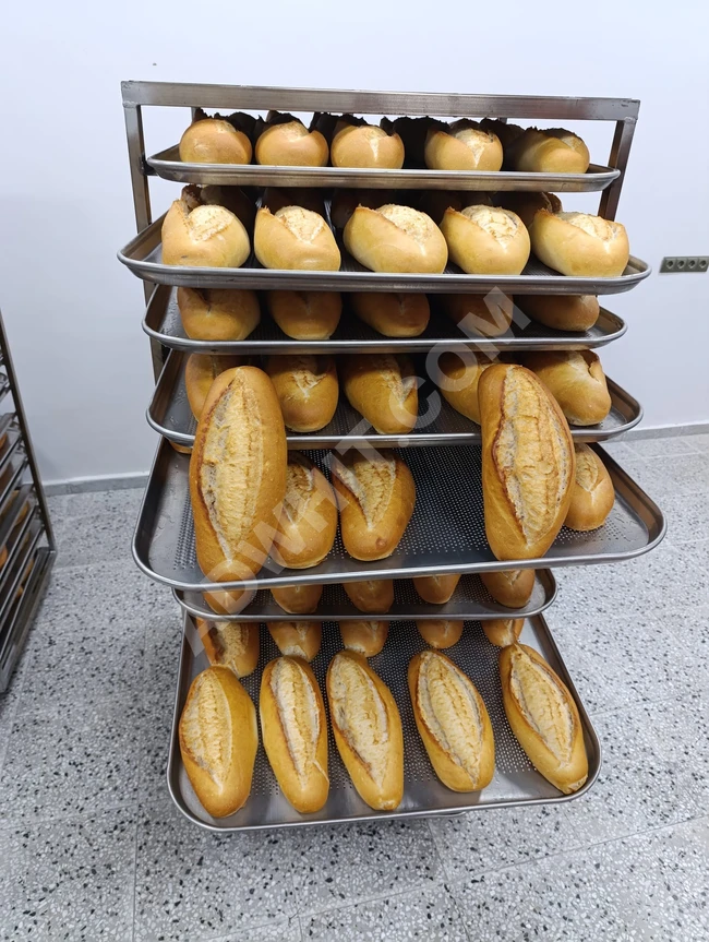
<svg viewBox="0 0 709 942"><path fill-rule="evenodd" d="M327 801L327 720L315 675L299 657L266 665L259 697L261 732L281 791L301 814Z"/></svg>

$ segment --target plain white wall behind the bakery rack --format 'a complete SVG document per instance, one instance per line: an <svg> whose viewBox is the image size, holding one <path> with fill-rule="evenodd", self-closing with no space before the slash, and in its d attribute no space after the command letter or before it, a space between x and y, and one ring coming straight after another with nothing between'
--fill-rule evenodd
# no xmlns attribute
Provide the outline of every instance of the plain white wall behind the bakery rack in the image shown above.
<svg viewBox="0 0 709 942"><path fill-rule="evenodd" d="M156 445L142 286L116 261L133 234L123 79L637 97L633 251L709 253L705 3L39 0L2 25L0 307L49 480L139 473ZM188 120L148 117L148 150ZM708 301L709 275L653 275L610 303L629 332L603 362L647 425L709 419Z"/></svg>

